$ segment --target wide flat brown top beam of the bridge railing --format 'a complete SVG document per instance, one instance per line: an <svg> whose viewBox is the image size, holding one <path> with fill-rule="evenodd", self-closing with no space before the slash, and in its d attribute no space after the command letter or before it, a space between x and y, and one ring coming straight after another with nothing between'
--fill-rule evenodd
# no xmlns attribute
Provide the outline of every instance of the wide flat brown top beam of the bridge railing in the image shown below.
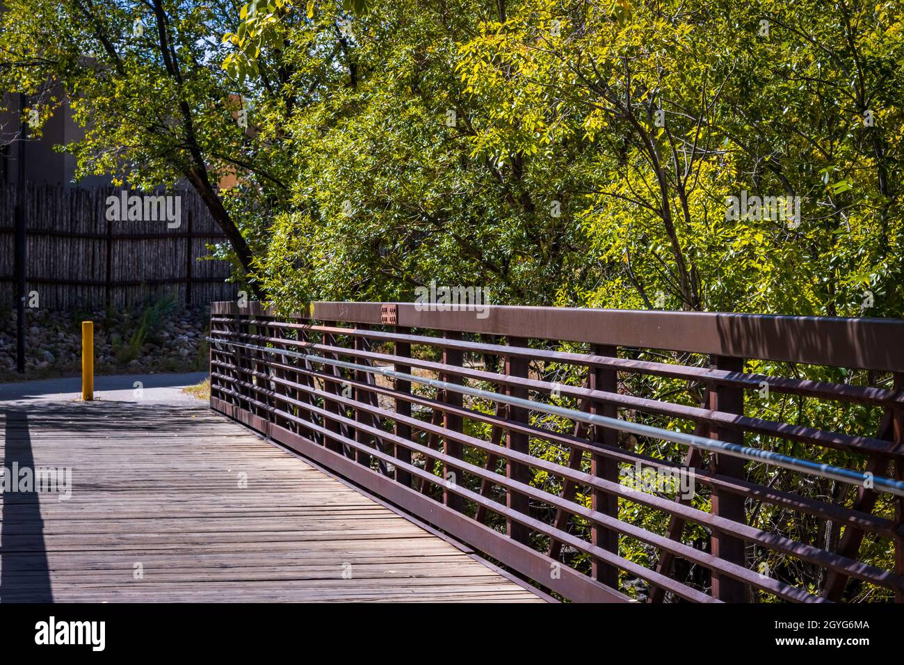
<svg viewBox="0 0 904 665"><path fill-rule="evenodd" d="M386 305L395 308L394 325L406 328L904 371L904 319L899 318L504 305L486 305L479 312L451 306L447 310L431 311L410 302L313 302L306 312L289 318L380 325L384 322L382 311ZM236 302L214 302L211 313L273 316L272 311L254 302L246 307Z"/></svg>

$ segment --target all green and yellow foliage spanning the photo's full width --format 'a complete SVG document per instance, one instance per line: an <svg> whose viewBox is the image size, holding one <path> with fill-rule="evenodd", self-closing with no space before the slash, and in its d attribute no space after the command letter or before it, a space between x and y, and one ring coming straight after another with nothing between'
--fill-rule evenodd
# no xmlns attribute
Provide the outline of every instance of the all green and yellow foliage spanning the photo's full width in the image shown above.
<svg viewBox="0 0 904 665"><path fill-rule="evenodd" d="M66 81L84 172L123 179L183 173L187 103L275 288L404 299L438 277L508 302L859 314L868 274L873 313L904 310L893 3L848 8L851 34L816 0L165 5L182 85L113 2L115 57L70 5L10 3L0 57L54 64L0 76ZM799 196L802 219L728 221L741 192ZM267 259L275 218L305 242Z"/></svg>

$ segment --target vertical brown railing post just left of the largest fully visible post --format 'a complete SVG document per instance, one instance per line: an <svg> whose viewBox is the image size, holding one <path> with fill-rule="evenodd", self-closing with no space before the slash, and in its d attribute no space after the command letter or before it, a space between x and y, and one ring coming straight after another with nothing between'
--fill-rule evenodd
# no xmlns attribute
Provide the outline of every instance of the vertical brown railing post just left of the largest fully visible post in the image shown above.
<svg viewBox="0 0 904 665"><path fill-rule="evenodd" d="M617 347L593 345L590 353L595 356L617 357ZM606 393L618 392L618 373L607 367L589 367L588 385L590 390L599 390ZM607 418L617 418L618 409L614 404L606 404L596 400L590 403L590 413L603 415ZM593 425L590 428L591 441L607 446L617 447L618 432L608 427ZM590 472L598 478L618 482L618 463L610 457L594 453L590 457ZM618 498L614 494L594 489L592 494L593 509L613 518L618 517ZM611 529L600 527L594 523L590 529L593 544L605 549L607 552L618 554L618 534ZM612 565L604 564L598 559L593 559L593 576L603 584L612 588L618 588L618 570Z"/></svg>

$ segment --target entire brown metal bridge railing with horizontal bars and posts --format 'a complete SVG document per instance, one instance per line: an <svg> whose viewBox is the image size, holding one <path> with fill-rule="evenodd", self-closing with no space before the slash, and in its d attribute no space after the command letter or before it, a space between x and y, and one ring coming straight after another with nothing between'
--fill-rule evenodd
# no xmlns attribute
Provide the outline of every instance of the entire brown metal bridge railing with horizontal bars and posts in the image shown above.
<svg viewBox="0 0 904 665"><path fill-rule="evenodd" d="M890 319L214 303L211 404L571 600L824 602L853 580L900 602L901 339ZM804 423L815 403L877 431Z"/></svg>

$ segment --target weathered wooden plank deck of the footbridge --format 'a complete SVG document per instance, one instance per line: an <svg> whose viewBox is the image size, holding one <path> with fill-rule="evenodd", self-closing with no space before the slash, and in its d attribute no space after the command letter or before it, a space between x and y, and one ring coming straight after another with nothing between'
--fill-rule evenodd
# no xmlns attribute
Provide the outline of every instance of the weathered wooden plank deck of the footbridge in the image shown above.
<svg viewBox="0 0 904 665"><path fill-rule="evenodd" d="M2 602L541 598L203 403L0 403ZM247 487L240 487L247 483Z"/></svg>

